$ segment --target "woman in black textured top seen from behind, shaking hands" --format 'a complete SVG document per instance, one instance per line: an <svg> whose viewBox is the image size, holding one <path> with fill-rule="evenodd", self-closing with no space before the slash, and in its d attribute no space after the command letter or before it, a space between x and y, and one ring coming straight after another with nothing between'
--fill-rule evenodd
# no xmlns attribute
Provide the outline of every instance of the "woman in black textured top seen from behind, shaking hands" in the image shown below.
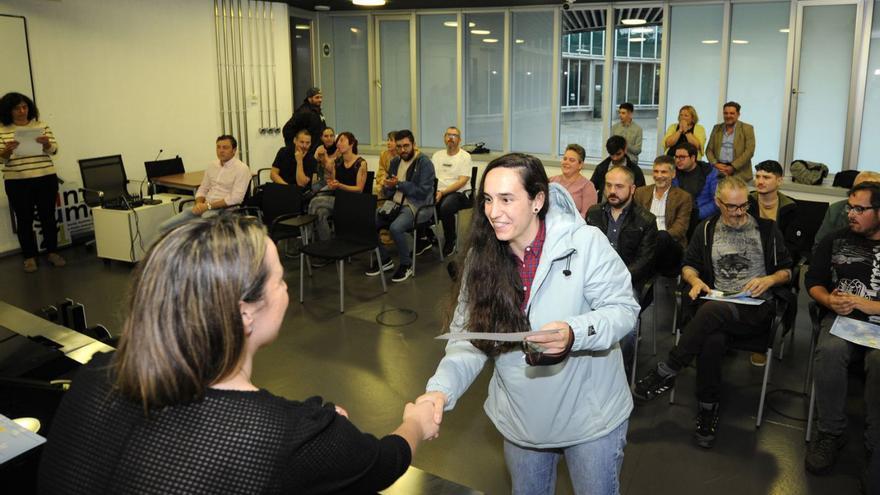
<svg viewBox="0 0 880 495"><path fill-rule="evenodd" d="M364 493L391 485L430 405L407 404L382 438L320 397L291 401L251 381L288 304L275 245L252 219L220 215L160 238L138 265L119 350L96 354L56 413L42 493Z"/></svg>

